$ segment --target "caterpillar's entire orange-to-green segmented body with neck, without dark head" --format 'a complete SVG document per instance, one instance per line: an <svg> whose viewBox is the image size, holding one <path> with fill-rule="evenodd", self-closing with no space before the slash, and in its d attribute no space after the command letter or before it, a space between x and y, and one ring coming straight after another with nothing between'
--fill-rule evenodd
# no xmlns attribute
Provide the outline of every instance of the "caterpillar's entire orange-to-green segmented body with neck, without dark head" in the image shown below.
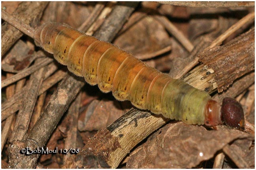
<svg viewBox="0 0 256 170"><path fill-rule="evenodd" d="M207 92L149 67L109 42L55 22L39 26L34 39L70 72L90 85L98 84L102 92L111 91L117 100L130 100L139 109L186 124L222 124L220 104ZM242 126L242 121L237 124Z"/></svg>

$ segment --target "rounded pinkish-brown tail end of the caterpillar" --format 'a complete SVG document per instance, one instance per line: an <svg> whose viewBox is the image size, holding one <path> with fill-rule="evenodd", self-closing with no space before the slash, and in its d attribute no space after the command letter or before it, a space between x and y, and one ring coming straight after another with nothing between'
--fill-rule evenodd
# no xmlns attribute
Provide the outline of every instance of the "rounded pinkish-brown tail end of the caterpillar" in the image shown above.
<svg viewBox="0 0 256 170"><path fill-rule="evenodd" d="M57 22L46 22L36 29L35 43L41 46L45 51L53 54L53 46L58 33L64 28L69 27L66 24Z"/></svg>

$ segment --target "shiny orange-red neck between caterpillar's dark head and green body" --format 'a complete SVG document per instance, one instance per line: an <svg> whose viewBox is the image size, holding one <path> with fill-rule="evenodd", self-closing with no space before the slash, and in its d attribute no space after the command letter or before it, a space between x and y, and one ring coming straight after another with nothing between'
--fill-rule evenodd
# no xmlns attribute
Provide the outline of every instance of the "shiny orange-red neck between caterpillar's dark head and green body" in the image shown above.
<svg viewBox="0 0 256 170"><path fill-rule="evenodd" d="M222 124L220 115L220 105L215 100L208 100L205 106L205 125L215 126Z"/></svg>

